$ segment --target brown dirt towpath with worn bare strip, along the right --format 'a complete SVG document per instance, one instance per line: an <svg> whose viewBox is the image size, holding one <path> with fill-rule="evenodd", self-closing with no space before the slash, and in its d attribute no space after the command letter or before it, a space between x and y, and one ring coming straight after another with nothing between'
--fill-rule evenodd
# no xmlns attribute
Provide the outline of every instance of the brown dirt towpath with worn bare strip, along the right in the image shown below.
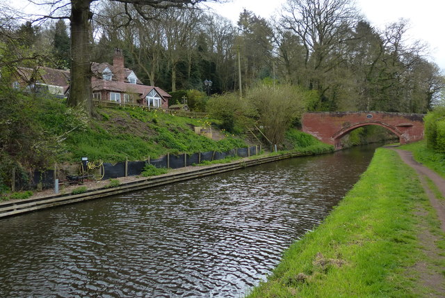
<svg viewBox="0 0 445 298"><path fill-rule="evenodd" d="M389 148L398 152L403 162L414 168L414 170L419 175L419 180L423 189L430 199L432 207L436 210L437 217L440 221L440 228L445 232L445 201L439 200L434 191L428 185L427 178L432 180L439 189L442 196L445 198L445 179L439 176L435 171L430 170L426 166L419 164L412 157L412 152ZM416 264L412 268L414 274L419 274L420 282L429 289L428 293L418 293L419 296L427 297L445 297L445 276L443 273L443 268L437 266L437 261L444 258L442 249L437 246L437 241L441 239L441 236L437 233L433 233L430 229L430 224L428 224L428 212L420 207L416 212L419 217L419 240L422 244L422 251L426 256L426 259L417 260Z"/></svg>

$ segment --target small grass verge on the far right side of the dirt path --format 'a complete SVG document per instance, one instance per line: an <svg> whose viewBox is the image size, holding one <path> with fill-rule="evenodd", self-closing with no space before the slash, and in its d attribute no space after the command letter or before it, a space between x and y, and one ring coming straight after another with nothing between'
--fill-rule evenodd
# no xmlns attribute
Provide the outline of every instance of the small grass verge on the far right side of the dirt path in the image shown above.
<svg viewBox="0 0 445 298"><path fill-rule="evenodd" d="M445 178L445 154L426 148L425 140L406 144L400 148L411 151L417 162L428 166L432 171Z"/></svg>

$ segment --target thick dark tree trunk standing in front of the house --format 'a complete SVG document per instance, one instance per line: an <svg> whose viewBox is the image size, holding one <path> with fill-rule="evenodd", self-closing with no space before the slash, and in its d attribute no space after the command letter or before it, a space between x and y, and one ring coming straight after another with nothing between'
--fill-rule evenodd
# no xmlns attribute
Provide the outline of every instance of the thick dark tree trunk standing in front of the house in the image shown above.
<svg viewBox="0 0 445 298"><path fill-rule="evenodd" d="M90 4L93 0L72 0L71 10L71 73L67 104L81 107L92 116L90 66Z"/></svg>

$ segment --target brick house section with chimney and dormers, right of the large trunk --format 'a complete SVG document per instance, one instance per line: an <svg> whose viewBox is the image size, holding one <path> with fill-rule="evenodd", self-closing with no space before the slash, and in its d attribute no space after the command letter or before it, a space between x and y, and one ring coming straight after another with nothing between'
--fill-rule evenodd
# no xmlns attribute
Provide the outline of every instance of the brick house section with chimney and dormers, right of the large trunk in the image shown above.
<svg viewBox="0 0 445 298"><path fill-rule="evenodd" d="M95 100L168 109L171 95L159 87L143 85L133 70L124 68L124 55L120 49L115 49L113 65L92 63L91 70L92 97Z"/></svg>

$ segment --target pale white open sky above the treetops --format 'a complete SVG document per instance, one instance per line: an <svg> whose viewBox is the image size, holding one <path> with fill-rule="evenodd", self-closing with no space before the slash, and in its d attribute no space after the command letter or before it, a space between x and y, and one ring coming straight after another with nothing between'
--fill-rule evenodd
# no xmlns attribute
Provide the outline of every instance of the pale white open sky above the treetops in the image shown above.
<svg viewBox="0 0 445 298"><path fill-rule="evenodd" d="M243 8L268 19L286 0L232 0L224 4L207 4L216 13L236 23ZM445 71L445 0L355 0L357 8L379 29L404 18L410 20L407 34L423 40L430 47L430 61Z"/></svg>

